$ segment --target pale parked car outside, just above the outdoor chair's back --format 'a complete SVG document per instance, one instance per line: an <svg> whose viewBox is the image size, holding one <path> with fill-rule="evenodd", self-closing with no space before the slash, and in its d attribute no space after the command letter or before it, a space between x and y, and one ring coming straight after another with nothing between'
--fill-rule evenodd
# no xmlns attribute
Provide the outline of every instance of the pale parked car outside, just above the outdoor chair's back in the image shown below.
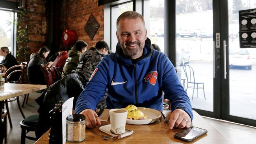
<svg viewBox="0 0 256 144"><path fill-rule="evenodd" d="M189 52L185 51L184 48L176 50L176 65L185 65L185 63L189 63L190 57Z"/></svg>

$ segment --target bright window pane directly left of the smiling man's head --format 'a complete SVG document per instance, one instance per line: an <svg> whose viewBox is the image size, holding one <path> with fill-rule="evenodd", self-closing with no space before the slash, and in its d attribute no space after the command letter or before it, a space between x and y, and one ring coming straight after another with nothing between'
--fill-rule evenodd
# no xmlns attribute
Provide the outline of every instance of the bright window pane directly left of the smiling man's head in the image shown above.
<svg viewBox="0 0 256 144"><path fill-rule="evenodd" d="M111 6L111 51L115 52L115 46L117 44L117 18L125 11L132 11L132 2L125 4Z"/></svg>

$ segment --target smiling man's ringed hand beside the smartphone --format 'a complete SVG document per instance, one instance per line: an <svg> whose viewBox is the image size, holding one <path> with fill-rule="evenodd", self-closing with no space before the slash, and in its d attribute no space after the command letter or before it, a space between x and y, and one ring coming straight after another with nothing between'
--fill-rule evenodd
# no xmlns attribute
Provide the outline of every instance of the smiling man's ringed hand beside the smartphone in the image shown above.
<svg viewBox="0 0 256 144"><path fill-rule="evenodd" d="M169 119L169 128L178 127L179 129L190 127L191 118L182 109L175 109Z"/></svg>

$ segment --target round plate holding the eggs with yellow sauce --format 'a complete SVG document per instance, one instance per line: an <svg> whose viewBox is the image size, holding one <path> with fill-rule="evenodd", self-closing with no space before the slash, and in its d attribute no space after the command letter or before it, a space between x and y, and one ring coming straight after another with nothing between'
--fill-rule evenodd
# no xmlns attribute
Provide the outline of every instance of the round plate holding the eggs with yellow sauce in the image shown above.
<svg viewBox="0 0 256 144"><path fill-rule="evenodd" d="M155 109L145 108L145 107L137 107L140 111L148 116L148 120L126 120L126 124L135 124L135 125L142 125L142 124L151 124L156 122L160 117L161 113Z"/></svg>

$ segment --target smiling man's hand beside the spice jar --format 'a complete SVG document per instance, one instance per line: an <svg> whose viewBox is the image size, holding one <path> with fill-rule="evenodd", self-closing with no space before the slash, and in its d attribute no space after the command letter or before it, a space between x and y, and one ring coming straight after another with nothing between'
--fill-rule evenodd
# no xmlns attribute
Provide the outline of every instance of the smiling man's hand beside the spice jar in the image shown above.
<svg viewBox="0 0 256 144"><path fill-rule="evenodd" d="M96 126L101 126L100 118L92 109L85 109L80 114L85 116L86 127L93 128Z"/></svg>

